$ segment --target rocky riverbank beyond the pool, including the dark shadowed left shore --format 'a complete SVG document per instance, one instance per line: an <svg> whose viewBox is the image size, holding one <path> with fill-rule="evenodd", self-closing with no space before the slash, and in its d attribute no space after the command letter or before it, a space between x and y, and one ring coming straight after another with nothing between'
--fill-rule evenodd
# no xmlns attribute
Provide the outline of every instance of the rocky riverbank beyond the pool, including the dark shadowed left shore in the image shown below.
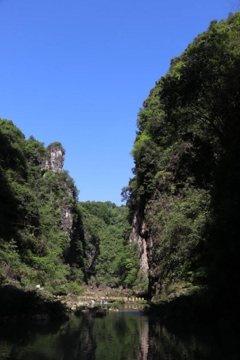
<svg viewBox="0 0 240 360"><path fill-rule="evenodd" d="M91 306L94 306L96 311L101 310L101 302L107 302L104 306L107 311L118 310L119 305L124 303L146 303L137 297L107 296L109 292L103 291L98 294L92 291L91 294L92 289L86 289L88 291L84 295L68 293L66 296L54 296L44 288L24 288L18 284L4 285L0 287L0 319L67 321L72 312L89 311ZM120 291L115 291L114 295Z"/></svg>

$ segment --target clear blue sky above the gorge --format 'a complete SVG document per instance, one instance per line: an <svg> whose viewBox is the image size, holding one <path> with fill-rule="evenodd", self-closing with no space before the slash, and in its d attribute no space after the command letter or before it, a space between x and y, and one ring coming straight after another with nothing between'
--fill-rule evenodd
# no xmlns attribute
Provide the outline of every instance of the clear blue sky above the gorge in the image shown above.
<svg viewBox="0 0 240 360"><path fill-rule="evenodd" d="M0 0L0 117L61 141L80 200L121 204L136 117L228 0Z"/></svg>

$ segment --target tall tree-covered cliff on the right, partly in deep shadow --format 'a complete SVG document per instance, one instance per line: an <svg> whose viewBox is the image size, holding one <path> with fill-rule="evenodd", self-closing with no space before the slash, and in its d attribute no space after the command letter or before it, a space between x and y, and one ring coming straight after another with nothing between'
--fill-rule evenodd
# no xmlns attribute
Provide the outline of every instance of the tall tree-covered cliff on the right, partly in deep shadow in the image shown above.
<svg viewBox="0 0 240 360"><path fill-rule="evenodd" d="M138 114L134 177L122 195L155 298L208 289L219 306L234 302L239 105L238 12L171 60Z"/></svg>

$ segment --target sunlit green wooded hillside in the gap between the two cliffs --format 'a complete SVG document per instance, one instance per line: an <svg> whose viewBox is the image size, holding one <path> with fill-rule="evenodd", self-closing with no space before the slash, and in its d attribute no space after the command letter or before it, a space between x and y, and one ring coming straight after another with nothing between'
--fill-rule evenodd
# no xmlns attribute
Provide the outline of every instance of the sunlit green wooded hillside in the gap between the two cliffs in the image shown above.
<svg viewBox="0 0 240 360"><path fill-rule="evenodd" d="M101 282L116 282L127 287L137 286L139 257L136 244L128 244L131 226L128 224L126 206L116 206L110 201L79 203L86 241L86 254L90 270ZM87 260L86 260L87 261ZM119 275L113 278L110 275Z"/></svg>

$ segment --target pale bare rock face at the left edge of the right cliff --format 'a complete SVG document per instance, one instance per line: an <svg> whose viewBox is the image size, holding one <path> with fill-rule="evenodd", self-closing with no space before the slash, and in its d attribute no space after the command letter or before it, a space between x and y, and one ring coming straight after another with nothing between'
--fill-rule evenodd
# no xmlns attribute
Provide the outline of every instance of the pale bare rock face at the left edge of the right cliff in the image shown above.
<svg viewBox="0 0 240 360"><path fill-rule="evenodd" d="M135 214L133 218L133 229L130 234L129 241L132 243L136 241L139 247L139 257L140 257L140 270L148 276L149 266L148 266L148 254L147 254L147 244L146 244L146 226L145 222L139 222L138 216Z"/></svg>

